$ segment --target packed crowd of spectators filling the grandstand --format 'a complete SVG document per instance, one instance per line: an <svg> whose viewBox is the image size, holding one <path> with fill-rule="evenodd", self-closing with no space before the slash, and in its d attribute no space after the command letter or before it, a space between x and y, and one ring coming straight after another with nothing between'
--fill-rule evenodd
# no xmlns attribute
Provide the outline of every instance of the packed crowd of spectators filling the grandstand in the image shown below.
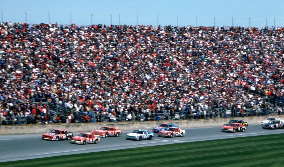
<svg viewBox="0 0 284 167"><path fill-rule="evenodd" d="M175 112L198 118L216 109L245 112L269 107L266 99L281 106L283 32L1 23L0 116L54 122L76 121L74 115L87 122L86 115L96 115L95 121L112 115L149 120ZM73 116L46 114L42 99L72 108Z"/></svg>

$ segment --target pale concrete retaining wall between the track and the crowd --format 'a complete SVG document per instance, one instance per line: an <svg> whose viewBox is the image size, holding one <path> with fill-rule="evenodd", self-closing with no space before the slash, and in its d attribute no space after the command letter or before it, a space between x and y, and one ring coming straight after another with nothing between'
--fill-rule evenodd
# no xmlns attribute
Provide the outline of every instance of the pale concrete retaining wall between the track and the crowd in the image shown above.
<svg viewBox="0 0 284 167"><path fill-rule="evenodd" d="M270 115L270 117L273 117ZM284 116L275 115L284 119ZM261 121L269 118L268 116L258 116L258 117L244 117L236 118L242 119L250 124L260 124ZM212 127L220 126L228 121L231 118L212 118L212 119L192 119L192 120L169 120L169 121L136 121L136 122L98 122L98 123L51 123L44 125L1 125L0 126L0 135L9 135L9 134L36 134L49 132L51 129L66 129L70 132L91 132L95 129L100 129L102 126L114 126L123 131L134 130L134 129L152 129L155 126L158 126L160 123L171 122L175 125L180 126L181 128L200 128L200 127Z"/></svg>

